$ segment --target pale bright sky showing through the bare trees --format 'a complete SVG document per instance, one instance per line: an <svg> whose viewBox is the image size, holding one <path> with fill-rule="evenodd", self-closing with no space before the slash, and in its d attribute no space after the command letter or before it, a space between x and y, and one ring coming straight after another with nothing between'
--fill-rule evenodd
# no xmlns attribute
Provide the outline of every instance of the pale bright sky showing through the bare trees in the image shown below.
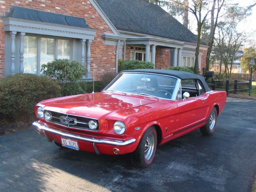
<svg viewBox="0 0 256 192"><path fill-rule="evenodd" d="M238 3L239 6L246 7L249 5L252 5L256 2L256 0L232 0L232 3ZM166 9L166 8L165 8ZM248 16L245 20L242 20L238 26L237 30L239 32L245 32L248 34L251 34L250 37L248 38L248 42L244 44L245 47L250 46L250 44L256 45L256 6L252 8L251 15ZM210 18L210 14L208 16ZM182 23L182 16L176 18L179 22ZM222 20L223 18L220 18ZM194 33L197 34L196 32L196 19L194 15L189 13L189 27L190 30ZM250 40L250 41L249 41Z"/></svg>

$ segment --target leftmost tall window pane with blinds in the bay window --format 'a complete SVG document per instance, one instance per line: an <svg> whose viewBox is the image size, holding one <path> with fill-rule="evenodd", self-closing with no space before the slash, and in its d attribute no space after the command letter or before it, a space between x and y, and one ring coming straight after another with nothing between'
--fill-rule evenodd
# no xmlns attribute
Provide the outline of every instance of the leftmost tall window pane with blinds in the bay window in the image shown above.
<svg viewBox="0 0 256 192"><path fill-rule="evenodd" d="M37 37L24 37L24 72L37 73Z"/></svg>

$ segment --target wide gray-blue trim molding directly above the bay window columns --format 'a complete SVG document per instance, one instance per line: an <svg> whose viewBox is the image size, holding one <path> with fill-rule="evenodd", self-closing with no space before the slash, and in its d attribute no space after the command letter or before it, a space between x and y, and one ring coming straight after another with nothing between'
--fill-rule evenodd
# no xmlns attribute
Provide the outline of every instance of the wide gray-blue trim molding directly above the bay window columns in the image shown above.
<svg viewBox="0 0 256 192"><path fill-rule="evenodd" d="M95 29L87 29L17 18L3 18L5 31L94 40Z"/></svg>

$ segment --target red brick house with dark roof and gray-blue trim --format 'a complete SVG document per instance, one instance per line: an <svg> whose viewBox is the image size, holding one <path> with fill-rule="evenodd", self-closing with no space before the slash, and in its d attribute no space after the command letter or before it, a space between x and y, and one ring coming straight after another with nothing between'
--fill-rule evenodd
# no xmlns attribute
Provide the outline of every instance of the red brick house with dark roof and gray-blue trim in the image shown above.
<svg viewBox="0 0 256 192"><path fill-rule="evenodd" d="M193 66L196 36L160 6L143 0L0 0L0 78L40 74L54 59L80 61L84 77L117 72L118 60L155 68ZM200 46L199 68L207 46Z"/></svg>

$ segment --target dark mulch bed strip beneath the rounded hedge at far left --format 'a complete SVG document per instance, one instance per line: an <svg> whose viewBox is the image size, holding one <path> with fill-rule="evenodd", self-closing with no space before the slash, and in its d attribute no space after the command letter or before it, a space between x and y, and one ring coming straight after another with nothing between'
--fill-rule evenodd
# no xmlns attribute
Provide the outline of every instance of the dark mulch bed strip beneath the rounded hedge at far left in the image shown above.
<svg viewBox="0 0 256 192"><path fill-rule="evenodd" d="M10 134L16 131L22 131L29 129L31 127L31 123L24 123L24 122L1 122L0 123L0 136Z"/></svg>

